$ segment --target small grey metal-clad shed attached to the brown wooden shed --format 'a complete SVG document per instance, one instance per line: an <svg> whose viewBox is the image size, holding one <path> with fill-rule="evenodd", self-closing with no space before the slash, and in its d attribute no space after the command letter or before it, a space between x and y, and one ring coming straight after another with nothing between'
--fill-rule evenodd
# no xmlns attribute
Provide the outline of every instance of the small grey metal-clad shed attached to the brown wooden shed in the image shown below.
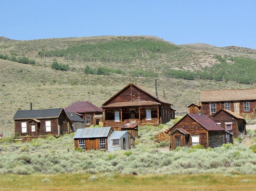
<svg viewBox="0 0 256 191"><path fill-rule="evenodd" d="M135 148L135 138L128 131L114 131L108 138L108 151L130 150Z"/></svg>

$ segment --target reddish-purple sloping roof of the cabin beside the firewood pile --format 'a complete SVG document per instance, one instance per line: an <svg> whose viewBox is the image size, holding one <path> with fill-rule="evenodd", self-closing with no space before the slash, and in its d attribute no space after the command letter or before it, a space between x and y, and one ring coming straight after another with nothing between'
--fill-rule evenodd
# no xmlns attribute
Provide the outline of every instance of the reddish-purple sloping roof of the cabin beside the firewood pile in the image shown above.
<svg viewBox="0 0 256 191"><path fill-rule="evenodd" d="M212 119L210 119L206 115L192 114L192 113L188 113L187 115L193 118L196 122L198 122L208 131L224 131L224 129L221 126L216 124L216 122L214 122Z"/></svg>

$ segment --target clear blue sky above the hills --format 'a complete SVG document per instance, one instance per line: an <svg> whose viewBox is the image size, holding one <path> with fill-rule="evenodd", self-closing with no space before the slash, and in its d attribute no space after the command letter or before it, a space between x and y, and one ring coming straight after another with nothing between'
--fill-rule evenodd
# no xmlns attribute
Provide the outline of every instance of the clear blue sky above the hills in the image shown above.
<svg viewBox="0 0 256 191"><path fill-rule="evenodd" d="M153 35L256 49L253 0L0 0L0 18L0 36L17 40Z"/></svg>

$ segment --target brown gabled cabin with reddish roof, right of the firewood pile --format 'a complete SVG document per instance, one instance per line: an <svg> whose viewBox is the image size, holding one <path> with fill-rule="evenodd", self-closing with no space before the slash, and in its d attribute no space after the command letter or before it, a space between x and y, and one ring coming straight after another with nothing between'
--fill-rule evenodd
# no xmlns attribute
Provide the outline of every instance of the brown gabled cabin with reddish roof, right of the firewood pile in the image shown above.
<svg viewBox="0 0 256 191"><path fill-rule="evenodd" d="M225 132L216 122L201 114L187 113L168 132L169 150L199 144L205 148L221 147L224 143L227 143L227 139L228 143L232 143L231 133Z"/></svg>

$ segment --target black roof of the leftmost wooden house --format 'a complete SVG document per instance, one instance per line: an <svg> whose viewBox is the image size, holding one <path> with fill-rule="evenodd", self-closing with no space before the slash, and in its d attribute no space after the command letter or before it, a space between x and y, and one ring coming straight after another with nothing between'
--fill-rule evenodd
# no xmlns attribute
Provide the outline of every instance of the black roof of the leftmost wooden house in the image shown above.
<svg viewBox="0 0 256 191"><path fill-rule="evenodd" d="M18 110L13 119L40 119L58 117L63 108L56 109L35 109L35 110Z"/></svg>

